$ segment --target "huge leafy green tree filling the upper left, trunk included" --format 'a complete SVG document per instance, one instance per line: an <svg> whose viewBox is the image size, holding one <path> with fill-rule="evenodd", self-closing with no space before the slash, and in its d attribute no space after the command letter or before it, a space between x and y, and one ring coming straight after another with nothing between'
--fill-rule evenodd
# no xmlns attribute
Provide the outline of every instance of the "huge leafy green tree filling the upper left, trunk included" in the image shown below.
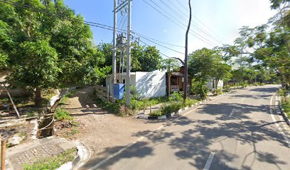
<svg viewBox="0 0 290 170"><path fill-rule="evenodd" d="M36 105L41 89L100 79L102 52L93 44L82 16L63 0L15 0L0 5L1 67L11 68L12 86L36 89Z"/></svg>

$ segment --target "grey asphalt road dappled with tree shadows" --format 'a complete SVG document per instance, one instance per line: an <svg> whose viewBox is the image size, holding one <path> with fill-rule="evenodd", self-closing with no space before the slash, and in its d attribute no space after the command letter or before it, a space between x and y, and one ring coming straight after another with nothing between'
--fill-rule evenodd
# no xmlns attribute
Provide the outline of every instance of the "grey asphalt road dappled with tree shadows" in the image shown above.
<svg viewBox="0 0 290 170"><path fill-rule="evenodd" d="M250 87L162 120L92 169L288 170L290 129L276 114L277 88Z"/></svg>

